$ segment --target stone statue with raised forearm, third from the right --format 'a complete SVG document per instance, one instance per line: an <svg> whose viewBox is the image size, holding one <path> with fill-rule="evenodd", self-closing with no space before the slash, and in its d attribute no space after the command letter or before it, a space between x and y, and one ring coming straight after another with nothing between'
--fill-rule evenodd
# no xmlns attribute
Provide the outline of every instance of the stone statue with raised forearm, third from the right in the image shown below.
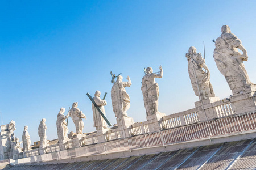
<svg viewBox="0 0 256 170"><path fill-rule="evenodd" d="M146 108L147 116L151 116L158 112L158 97L159 87L158 83L155 82L155 78L163 77L162 66L159 67L160 73L153 73L151 67L147 67L146 75L142 78L142 94L144 98L144 105Z"/></svg>

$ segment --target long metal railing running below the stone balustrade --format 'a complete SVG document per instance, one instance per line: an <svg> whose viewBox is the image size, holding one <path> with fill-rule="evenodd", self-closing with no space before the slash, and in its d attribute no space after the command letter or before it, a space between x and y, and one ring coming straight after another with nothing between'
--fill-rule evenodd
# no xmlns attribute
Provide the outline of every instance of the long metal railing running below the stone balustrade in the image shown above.
<svg viewBox="0 0 256 170"><path fill-rule="evenodd" d="M157 131L155 133L142 134L134 137L118 139L115 141L96 143L94 145L57 151L50 154L32 156L32 158L29 158L29 162L43 162L46 160L59 160L67 158L71 159L77 156L88 156L104 153L106 154L109 152L133 150L136 148L152 146L165 146L172 143L191 141L194 139L211 138L217 137L219 135L255 130L255 114L256 111L248 112L219 118L217 120L198 122L196 124ZM17 161L24 163L25 159L26 158L24 158L24 160L20 159Z"/></svg>

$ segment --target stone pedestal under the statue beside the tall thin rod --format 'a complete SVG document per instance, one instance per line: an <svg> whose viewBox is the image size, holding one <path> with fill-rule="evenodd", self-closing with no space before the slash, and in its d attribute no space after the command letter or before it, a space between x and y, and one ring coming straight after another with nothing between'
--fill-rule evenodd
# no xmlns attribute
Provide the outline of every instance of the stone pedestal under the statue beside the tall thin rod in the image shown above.
<svg viewBox="0 0 256 170"><path fill-rule="evenodd" d="M203 99L202 101L196 101L195 107L199 115L200 121L212 120L217 117L216 110L214 109L212 103L219 101L218 97L209 97L209 99ZM203 107L202 107L203 103Z"/></svg>

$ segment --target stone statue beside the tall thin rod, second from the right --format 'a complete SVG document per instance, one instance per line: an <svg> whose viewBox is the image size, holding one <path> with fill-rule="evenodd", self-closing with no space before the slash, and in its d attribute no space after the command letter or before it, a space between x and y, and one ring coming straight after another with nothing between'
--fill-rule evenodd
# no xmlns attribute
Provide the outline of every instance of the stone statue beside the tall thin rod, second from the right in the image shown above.
<svg viewBox="0 0 256 170"><path fill-rule="evenodd" d="M212 84L210 84L210 71L205 65L205 60L201 53L196 53L196 48L191 46L188 53L186 53L186 57L188 59L189 77L196 96L199 96L199 99L215 97Z"/></svg>

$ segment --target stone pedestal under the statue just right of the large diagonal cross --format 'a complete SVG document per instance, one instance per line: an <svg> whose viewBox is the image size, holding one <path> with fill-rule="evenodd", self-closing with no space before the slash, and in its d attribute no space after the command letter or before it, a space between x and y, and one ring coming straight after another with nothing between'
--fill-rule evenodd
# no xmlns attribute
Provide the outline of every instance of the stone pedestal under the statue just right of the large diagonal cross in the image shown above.
<svg viewBox="0 0 256 170"><path fill-rule="evenodd" d="M134 121L132 117L123 116L122 118L117 118L118 131L121 135L121 138L126 138L130 136L129 131L131 129L131 125L133 124Z"/></svg>

